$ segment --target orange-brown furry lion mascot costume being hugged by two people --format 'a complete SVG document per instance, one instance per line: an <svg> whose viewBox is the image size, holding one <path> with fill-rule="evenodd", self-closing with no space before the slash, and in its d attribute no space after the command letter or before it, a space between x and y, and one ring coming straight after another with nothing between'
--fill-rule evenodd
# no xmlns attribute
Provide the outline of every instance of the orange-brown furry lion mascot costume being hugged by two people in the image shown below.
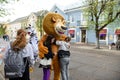
<svg viewBox="0 0 120 80"><path fill-rule="evenodd" d="M43 29L46 34L43 35L38 44L40 58L43 58L44 54L48 53L47 47L43 45L47 36L52 35L56 40L64 40L66 38L64 33L67 30L67 27L65 26L64 18L60 14L49 12L43 19ZM52 44L51 46L52 52L55 53L52 60L54 80L60 80L60 66L57 57L59 46L55 44Z"/></svg>

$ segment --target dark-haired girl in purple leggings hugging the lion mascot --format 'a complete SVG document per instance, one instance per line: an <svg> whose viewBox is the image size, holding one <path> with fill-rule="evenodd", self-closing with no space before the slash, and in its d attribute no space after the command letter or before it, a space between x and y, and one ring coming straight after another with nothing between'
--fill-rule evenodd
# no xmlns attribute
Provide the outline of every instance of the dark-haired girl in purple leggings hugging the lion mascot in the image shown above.
<svg viewBox="0 0 120 80"><path fill-rule="evenodd" d="M44 46L48 48L48 53L44 54L44 56L40 56L41 60L46 59L45 61L48 62L48 64L44 64L43 62L40 63L39 68L43 68L43 80L50 80L50 69L51 69L51 64L52 64L52 58L53 58L53 53L52 53L52 48L51 44L53 43L52 40L53 37L51 35L48 35L46 38L46 41L44 42ZM45 62L46 63L46 62Z"/></svg>

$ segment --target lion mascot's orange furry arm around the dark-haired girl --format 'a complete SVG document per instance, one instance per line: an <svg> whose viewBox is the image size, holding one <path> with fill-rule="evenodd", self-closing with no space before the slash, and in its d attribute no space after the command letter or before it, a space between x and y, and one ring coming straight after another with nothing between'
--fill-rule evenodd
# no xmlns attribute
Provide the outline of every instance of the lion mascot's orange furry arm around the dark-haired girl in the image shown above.
<svg viewBox="0 0 120 80"><path fill-rule="evenodd" d="M40 41L39 41L39 43L38 43L39 57L40 57L40 58L43 58L43 57L44 57L44 54L47 54L47 53L48 53L48 48L43 45L43 43L44 43L44 41L46 40L46 38L47 38L47 35L44 35L44 36L40 39Z"/></svg>

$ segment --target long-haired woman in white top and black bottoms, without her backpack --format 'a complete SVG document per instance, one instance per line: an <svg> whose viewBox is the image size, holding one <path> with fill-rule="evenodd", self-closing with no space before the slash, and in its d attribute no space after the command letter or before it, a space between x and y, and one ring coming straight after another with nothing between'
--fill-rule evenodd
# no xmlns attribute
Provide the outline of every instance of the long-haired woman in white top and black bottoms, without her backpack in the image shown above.
<svg viewBox="0 0 120 80"><path fill-rule="evenodd" d="M34 64L34 53L33 53L31 45L27 42L26 34L27 33L24 29L19 29L17 31L16 40L10 42L10 44L8 45L7 51L8 49L10 49L10 47L14 51L19 51L21 49L24 51L22 55L23 55L24 63L26 64L25 71L23 72L22 77L9 78L9 80L30 80L29 66L30 64L31 65ZM5 56L6 55L7 54L5 54Z"/></svg>

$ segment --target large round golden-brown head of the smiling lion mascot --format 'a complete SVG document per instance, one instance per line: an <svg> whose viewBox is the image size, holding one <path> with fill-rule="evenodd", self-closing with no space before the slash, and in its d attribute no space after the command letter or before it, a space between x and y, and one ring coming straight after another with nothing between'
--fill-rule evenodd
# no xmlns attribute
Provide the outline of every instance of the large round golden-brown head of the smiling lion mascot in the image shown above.
<svg viewBox="0 0 120 80"><path fill-rule="evenodd" d="M67 29L65 19L58 13L48 13L43 20L43 29L48 35L61 37Z"/></svg>

